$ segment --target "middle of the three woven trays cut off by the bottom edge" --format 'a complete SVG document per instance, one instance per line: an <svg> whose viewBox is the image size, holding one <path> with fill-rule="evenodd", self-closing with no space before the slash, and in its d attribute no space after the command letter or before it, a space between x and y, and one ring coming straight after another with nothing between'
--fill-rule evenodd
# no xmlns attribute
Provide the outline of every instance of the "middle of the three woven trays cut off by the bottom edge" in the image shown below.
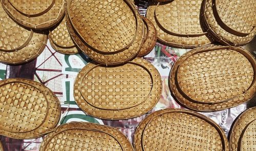
<svg viewBox="0 0 256 151"><path fill-rule="evenodd" d="M135 150L229 150L221 127L204 115L165 109L143 119L134 134Z"/></svg>

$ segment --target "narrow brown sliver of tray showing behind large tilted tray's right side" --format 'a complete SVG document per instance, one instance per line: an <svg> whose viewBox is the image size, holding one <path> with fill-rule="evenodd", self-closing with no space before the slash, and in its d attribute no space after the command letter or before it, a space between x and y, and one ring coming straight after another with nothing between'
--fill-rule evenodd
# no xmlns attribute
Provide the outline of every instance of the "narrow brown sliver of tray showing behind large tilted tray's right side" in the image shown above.
<svg viewBox="0 0 256 151"><path fill-rule="evenodd" d="M144 21L144 26L146 27L144 28L145 41L139 51L138 57L143 57L149 54L155 47L157 41L157 31L153 23L146 17L142 16L142 19Z"/></svg>

